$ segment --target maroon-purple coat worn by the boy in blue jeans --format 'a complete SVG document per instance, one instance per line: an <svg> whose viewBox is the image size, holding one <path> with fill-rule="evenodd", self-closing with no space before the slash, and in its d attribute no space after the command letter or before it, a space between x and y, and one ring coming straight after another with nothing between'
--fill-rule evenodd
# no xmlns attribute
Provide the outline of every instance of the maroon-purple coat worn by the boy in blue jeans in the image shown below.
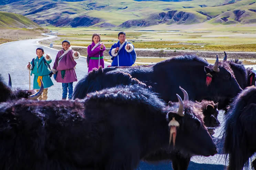
<svg viewBox="0 0 256 170"><path fill-rule="evenodd" d="M77 77L76 77L76 71L75 71L75 66L76 66L76 62L74 59L78 59L79 58L79 53L77 55L77 57L75 57L74 55L74 50L67 49L66 51L64 51L64 49L58 51L55 62L53 64L53 73L54 70L58 71L57 72L57 77L56 77L56 81L58 83L71 83L71 82L76 82L77 81ZM65 53L65 54L64 54ZM64 57L61 58L61 56L64 54ZM59 58L61 58L60 61ZM65 70L65 77L62 78L61 77L61 71Z"/></svg>

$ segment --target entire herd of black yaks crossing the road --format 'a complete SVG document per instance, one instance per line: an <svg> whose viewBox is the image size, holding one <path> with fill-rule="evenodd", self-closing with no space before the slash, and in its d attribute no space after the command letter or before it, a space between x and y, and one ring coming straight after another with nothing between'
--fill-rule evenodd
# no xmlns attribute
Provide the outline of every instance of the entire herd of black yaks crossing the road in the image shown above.
<svg viewBox="0 0 256 170"><path fill-rule="evenodd" d="M191 55L151 66L94 69L73 100L34 100L0 76L0 169L133 170L140 160L171 160L186 170L195 155L213 156L210 134L223 127L228 170L256 169L255 73L227 56L214 65ZM182 87L182 88L181 88ZM181 96L181 97L180 97ZM183 97L183 99L182 99Z"/></svg>

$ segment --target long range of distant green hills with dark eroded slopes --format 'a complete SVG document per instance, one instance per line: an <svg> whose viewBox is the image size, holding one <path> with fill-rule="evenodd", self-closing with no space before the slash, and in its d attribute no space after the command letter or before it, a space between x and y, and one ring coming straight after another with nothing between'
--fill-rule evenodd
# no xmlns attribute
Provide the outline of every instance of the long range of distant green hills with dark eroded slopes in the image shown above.
<svg viewBox="0 0 256 170"><path fill-rule="evenodd" d="M255 0L7 1L0 5L0 11L22 14L41 26L119 29L163 24L256 23Z"/></svg>

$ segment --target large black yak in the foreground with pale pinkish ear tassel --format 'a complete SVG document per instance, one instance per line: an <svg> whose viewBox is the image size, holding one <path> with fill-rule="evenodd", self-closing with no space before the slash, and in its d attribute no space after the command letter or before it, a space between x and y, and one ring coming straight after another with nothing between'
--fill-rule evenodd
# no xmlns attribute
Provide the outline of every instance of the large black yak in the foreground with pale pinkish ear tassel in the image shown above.
<svg viewBox="0 0 256 170"><path fill-rule="evenodd" d="M161 147L216 154L200 105L183 104L180 97L179 103L166 106L139 85L103 89L82 100L4 102L0 169L132 170Z"/></svg>

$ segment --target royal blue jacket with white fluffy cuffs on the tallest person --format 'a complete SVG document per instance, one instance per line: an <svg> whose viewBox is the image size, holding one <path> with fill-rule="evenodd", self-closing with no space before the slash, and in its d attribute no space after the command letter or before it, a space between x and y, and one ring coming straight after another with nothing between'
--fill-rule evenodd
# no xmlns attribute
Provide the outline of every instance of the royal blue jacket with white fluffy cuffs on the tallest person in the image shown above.
<svg viewBox="0 0 256 170"><path fill-rule="evenodd" d="M129 50L125 48L127 44L130 46ZM117 54L119 57L119 66L131 66L135 63L136 52L134 50L134 45L132 45L130 42L125 42L125 45L122 47L119 53L115 53L116 47L120 47L119 41L115 43L108 52L109 55L112 57L111 60L113 60L111 66L118 66Z"/></svg>

